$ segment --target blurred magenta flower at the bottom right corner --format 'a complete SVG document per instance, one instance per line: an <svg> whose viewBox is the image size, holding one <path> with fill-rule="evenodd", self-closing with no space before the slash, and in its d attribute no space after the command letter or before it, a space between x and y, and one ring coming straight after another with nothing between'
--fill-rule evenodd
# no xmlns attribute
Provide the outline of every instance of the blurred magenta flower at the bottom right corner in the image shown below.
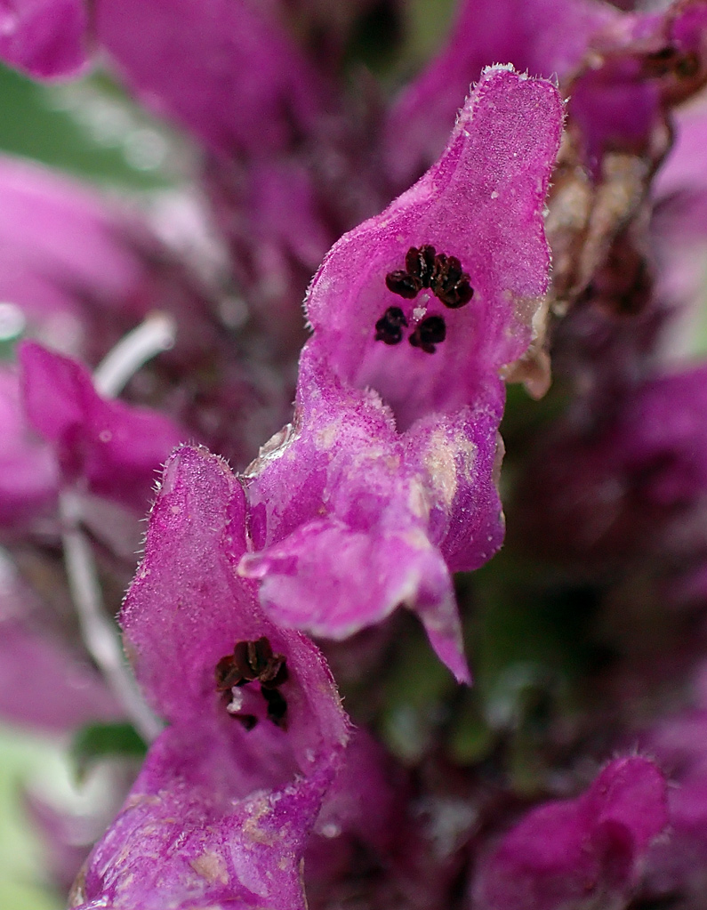
<svg viewBox="0 0 707 910"><path fill-rule="evenodd" d="M589 910L625 905L641 861L668 824L662 773L617 759L577 799L533 810L480 865L475 910Z"/></svg>

